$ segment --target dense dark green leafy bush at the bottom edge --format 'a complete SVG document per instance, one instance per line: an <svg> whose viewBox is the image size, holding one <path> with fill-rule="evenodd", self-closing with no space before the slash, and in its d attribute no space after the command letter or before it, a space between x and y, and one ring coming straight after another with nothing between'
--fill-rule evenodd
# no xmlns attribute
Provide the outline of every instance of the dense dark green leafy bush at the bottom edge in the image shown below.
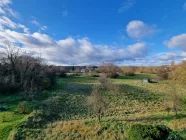
<svg viewBox="0 0 186 140"><path fill-rule="evenodd" d="M128 131L129 140L182 140L182 138L166 126L133 125Z"/></svg>

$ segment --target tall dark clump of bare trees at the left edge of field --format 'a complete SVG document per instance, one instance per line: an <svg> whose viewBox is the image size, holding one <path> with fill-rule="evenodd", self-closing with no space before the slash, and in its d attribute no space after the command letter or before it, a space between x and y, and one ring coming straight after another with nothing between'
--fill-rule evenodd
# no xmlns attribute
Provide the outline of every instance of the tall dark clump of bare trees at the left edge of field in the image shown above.
<svg viewBox="0 0 186 140"><path fill-rule="evenodd" d="M24 91L31 95L55 84L55 74L40 57L6 43L0 58L0 92Z"/></svg>

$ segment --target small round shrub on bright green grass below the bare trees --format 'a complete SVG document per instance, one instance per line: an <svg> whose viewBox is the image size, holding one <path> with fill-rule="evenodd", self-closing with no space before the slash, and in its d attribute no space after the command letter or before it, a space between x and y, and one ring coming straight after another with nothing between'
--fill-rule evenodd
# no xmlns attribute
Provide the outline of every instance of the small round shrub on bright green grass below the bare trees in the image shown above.
<svg viewBox="0 0 186 140"><path fill-rule="evenodd" d="M29 114L32 112L32 106L27 101L22 101L18 105L17 112L20 114Z"/></svg>

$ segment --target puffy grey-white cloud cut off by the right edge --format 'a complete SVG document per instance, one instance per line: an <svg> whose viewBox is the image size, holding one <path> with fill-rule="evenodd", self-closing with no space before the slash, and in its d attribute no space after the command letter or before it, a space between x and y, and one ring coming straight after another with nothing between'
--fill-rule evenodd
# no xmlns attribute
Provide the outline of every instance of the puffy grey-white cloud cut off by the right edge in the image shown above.
<svg viewBox="0 0 186 140"><path fill-rule="evenodd" d="M172 37L168 41L164 41L164 45L168 46L169 48L181 48L183 51L186 51L186 34L181 34Z"/></svg>

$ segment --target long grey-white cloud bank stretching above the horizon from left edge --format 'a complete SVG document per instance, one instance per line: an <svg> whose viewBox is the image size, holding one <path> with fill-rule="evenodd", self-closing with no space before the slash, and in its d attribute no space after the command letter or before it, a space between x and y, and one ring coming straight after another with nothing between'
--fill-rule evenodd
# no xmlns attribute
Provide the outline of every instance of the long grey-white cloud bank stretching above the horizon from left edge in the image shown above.
<svg viewBox="0 0 186 140"><path fill-rule="evenodd" d="M7 29L4 32L1 31L0 36L1 40L7 39L20 43L24 46L23 49L40 53L45 60L57 64L78 65L99 64L103 61L134 61L147 55L147 45L143 42L117 49L108 45L92 44L88 38L68 37L54 40L38 32L26 34Z"/></svg>

